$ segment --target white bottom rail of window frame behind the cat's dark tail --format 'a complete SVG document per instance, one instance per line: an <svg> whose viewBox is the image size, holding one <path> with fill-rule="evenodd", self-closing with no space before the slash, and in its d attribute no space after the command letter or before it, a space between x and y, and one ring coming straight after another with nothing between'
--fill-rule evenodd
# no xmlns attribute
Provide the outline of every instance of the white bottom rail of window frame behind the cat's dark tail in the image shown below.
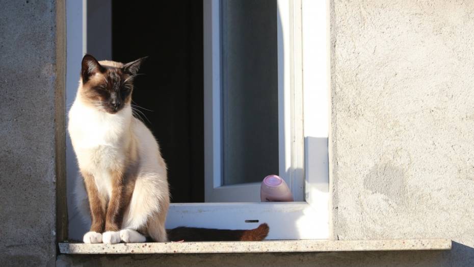
<svg viewBox="0 0 474 267"><path fill-rule="evenodd" d="M326 239L328 225L306 202L174 203L166 228L193 226L218 229L252 229L270 226L267 239ZM246 223L246 220L258 220Z"/></svg>

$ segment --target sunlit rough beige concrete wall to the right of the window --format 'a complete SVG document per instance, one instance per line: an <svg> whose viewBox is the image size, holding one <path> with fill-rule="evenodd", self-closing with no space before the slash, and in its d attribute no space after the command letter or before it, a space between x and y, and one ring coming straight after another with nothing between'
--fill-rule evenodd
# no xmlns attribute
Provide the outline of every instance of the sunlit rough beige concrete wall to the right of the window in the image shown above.
<svg viewBox="0 0 474 267"><path fill-rule="evenodd" d="M434 265L473 266L474 2L332 8L334 236L450 238Z"/></svg>

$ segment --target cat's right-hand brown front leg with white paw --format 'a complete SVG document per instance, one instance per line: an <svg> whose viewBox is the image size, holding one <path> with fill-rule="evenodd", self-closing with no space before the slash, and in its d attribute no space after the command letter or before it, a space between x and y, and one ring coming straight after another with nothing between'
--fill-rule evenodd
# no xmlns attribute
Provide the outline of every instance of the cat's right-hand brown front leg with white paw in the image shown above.
<svg viewBox="0 0 474 267"><path fill-rule="evenodd" d="M133 186L126 186L126 177L121 172L112 174L112 196L106 214L106 231L102 234L102 241L106 244L120 242L120 227L122 226L125 208L131 199Z"/></svg>

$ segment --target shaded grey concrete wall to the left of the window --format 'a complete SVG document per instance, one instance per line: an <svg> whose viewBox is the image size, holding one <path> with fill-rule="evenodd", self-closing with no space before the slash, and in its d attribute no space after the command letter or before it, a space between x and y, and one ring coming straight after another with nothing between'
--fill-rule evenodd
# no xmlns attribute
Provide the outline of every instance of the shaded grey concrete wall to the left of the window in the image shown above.
<svg viewBox="0 0 474 267"><path fill-rule="evenodd" d="M44 266L55 263L56 174L64 166L58 4L1 6L0 265Z"/></svg>

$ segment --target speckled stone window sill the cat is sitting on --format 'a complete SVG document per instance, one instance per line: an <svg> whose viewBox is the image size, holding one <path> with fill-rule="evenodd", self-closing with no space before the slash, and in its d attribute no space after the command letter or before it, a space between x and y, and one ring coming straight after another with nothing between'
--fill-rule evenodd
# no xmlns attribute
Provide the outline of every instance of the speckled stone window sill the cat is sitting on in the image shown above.
<svg viewBox="0 0 474 267"><path fill-rule="evenodd" d="M65 254L262 253L325 251L450 250L449 239L397 240L266 240L227 242L166 242L81 244L62 242Z"/></svg>

